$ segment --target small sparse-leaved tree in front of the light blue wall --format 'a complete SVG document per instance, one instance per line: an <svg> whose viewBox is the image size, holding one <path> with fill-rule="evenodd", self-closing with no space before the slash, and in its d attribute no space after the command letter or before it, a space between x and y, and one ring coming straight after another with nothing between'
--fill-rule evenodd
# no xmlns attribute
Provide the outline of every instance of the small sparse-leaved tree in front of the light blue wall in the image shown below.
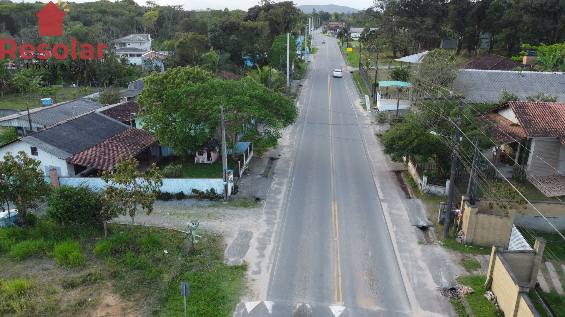
<svg viewBox="0 0 565 317"><path fill-rule="evenodd" d="M146 173L140 174L136 158L120 156L118 161L114 174L104 171L102 175L108 184L101 197L102 214L105 218L129 214L129 217L132 217L129 232L133 233L138 206L141 206L141 210L145 210L147 215L153 212L153 203L157 200L157 190L163 186L163 178L155 163Z"/></svg>

